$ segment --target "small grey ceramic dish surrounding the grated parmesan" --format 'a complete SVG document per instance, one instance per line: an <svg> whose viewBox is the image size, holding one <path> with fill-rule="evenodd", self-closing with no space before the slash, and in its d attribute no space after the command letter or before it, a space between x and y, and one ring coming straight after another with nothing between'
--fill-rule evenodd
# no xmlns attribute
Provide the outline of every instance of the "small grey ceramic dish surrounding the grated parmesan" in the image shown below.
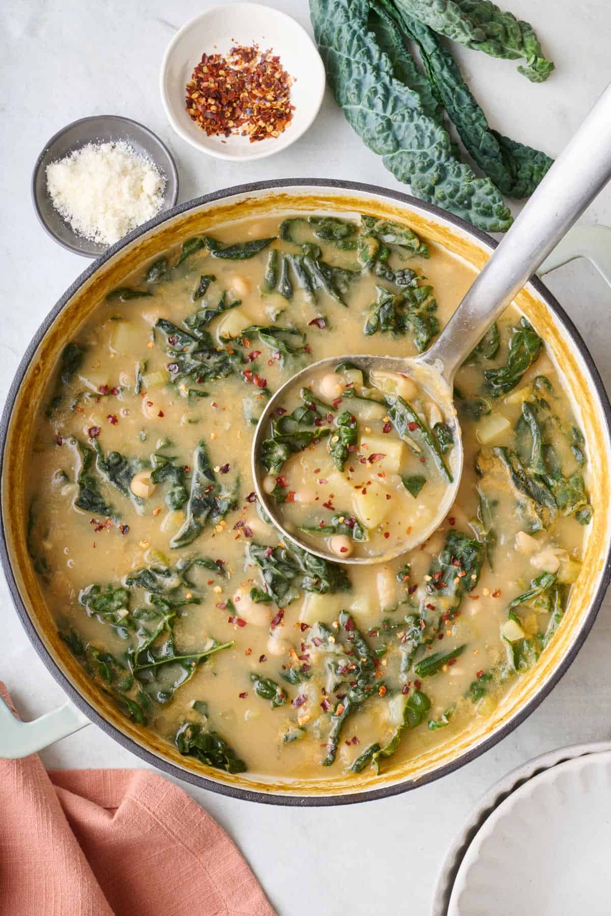
<svg viewBox="0 0 611 916"><path fill-rule="evenodd" d="M113 140L125 140L137 153L152 159L165 177L161 213L170 210L178 200L179 176L174 159L168 147L148 127L117 114L98 114L72 121L50 138L36 160L32 171L32 202L43 229L75 255L97 257L104 254L108 245L99 245L77 235L54 209L47 191L47 166L88 143Z"/></svg>

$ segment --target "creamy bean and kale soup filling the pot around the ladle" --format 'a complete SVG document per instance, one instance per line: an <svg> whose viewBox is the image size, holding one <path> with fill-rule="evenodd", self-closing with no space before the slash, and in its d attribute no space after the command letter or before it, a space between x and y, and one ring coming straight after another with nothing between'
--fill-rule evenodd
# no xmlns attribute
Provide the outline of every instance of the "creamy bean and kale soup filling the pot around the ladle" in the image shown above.
<svg viewBox="0 0 611 916"><path fill-rule="evenodd" d="M585 444L513 308L457 374L463 479L420 549L319 561L278 540L253 492L270 392L327 356L418 353L473 277L372 217L225 224L125 278L62 354L30 459L32 562L77 660L186 764L386 771L490 714L562 626ZM386 439L385 416L357 416L363 438ZM315 454L291 456L295 490Z"/></svg>

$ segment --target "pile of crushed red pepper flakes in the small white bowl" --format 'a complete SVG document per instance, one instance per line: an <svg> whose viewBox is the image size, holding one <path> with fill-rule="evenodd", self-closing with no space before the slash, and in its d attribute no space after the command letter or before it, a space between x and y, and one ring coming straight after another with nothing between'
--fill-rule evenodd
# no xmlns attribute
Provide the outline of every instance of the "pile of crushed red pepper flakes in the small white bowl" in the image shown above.
<svg viewBox="0 0 611 916"><path fill-rule="evenodd" d="M186 86L185 107L207 136L278 136L290 124L293 77L271 49L238 45L229 54L202 54Z"/></svg>

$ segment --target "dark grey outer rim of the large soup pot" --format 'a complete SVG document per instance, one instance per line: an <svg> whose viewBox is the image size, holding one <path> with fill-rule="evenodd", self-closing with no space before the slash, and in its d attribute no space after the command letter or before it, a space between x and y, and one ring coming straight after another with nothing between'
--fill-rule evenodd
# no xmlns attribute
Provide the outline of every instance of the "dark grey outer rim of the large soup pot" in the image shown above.
<svg viewBox="0 0 611 916"><path fill-rule="evenodd" d="M104 252L104 255L98 257L93 264L87 267L72 284L69 289L61 296L60 300L49 312L46 319L42 322L38 328L37 333L34 335L32 341L27 347L26 353L23 356L17 370L16 375L13 380L13 383L8 392L5 408L2 415L2 420L0 421L0 479L4 471L5 463L5 445L6 445L6 436L8 431L8 425L11 418L11 413L13 410L13 405L15 403L16 394L23 381L23 378L27 372L27 367L30 364L33 355L35 354L38 344L40 344L42 338L49 330L52 322L55 321L60 311L64 308L71 297L76 293L78 289L82 286L85 280L89 279L93 273L97 270L98 267L104 264L105 261L109 260L111 257L121 250L121 248L128 245L130 242L133 242L140 235L147 233L150 229L155 228L156 226L167 222L170 219L173 219L175 216L180 215L180 213L187 213L189 210L193 210L196 207L201 206L205 203L212 203L215 201L221 201L226 197L232 197L237 194L249 194L255 191L273 191L277 189L278 191L289 191L291 188L303 188L303 187L313 187L313 188L330 188L333 190L341 191L353 191L355 193L366 193L377 196L382 196L386 198L392 198L395 201L398 201L407 206L411 207L414 210L424 211L425 213L431 213L432 216L441 218L455 226L458 226L460 229L463 229L465 233L471 235L477 241L484 243L486 247L490 249L496 248L498 244L495 239L491 236L482 232L480 229L475 228L475 226L466 223L459 216L454 216L453 213L447 213L446 211L440 209L439 207L434 206L431 203L426 203L418 200L415 197L412 197L410 194L404 194L400 191L389 191L385 188L379 186L370 185L370 184L361 184L357 181L344 181L344 180L333 180L333 179L275 179L270 181L256 181L251 184L240 184L235 185L232 188L224 188L221 191L213 191L210 194L204 194L202 197L193 199L185 203L180 203L177 206L173 207L171 210L164 211L159 213L154 219L150 220L148 223L144 223L141 226L138 226L133 232L125 235L119 242L115 245L112 245ZM546 304L551 308L551 311L560 318L561 322L566 327L567 331L571 334L573 342L577 345L579 353L584 359L584 363L590 372L594 384L596 395L600 400L601 406L603 408L605 419L606 419L606 432L607 438L611 438L611 404L609 404L609 399L606 395L606 390L601 380L601 377L598 374L594 360L590 355L584 341L581 337L581 334L577 331L577 328L562 309L560 303L551 295L549 289L547 289L540 279L533 278L529 281L529 285L535 289L539 294L540 298L546 302ZM418 786L425 785L428 782L433 780L438 780L442 776L446 776L449 773L455 772L457 769L464 767L466 763L470 763L475 758L479 757L480 754L483 754L486 750L489 750L491 747L494 747L499 741L504 737L507 737L510 732L514 730L518 725L520 725L524 720L532 713L537 706L542 702L542 700L551 692L551 689L560 681L562 675L565 671L568 670L569 666L572 664L575 659L579 649L584 644L584 640L588 635L592 625L595 622L595 617L598 613L600 605L603 601L603 598L606 593L607 585L611 579L611 549L607 552L606 562L604 572L601 576L598 587L596 588L595 596L592 601L587 615L584 618L582 628L574 640L571 649L567 652L564 658L559 662L555 670L551 673L549 680L543 684L538 692L531 697L528 703L525 703L516 714L514 714L511 719L500 728L494 732L493 735L486 737L484 741L478 744L476 747L472 747L470 750L464 752L459 757L449 761L448 763L443 764L437 769L432 769L431 772L426 773L424 776L421 776L417 780L403 780L394 782L391 785L384 786L380 789L369 789L361 792L352 792L345 795L284 795L275 791L251 791L244 789L238 786L227 785L223 782L216 782L215 780L208 779L207 777L201 776L198 773L193 772L189 769L181 769L173 763L158 757L157 754L152 753L147 750L145 747L141 747L136 743L132 738L127 737L123 734L115 725L111 725L103 716L101 716L93 706L87 702L87 700L82 697L81 693L76 690L72 685L71 681L60 671L60 667L57 662L53 659L52 655L49 653L49 650L44 645L42 639L38 636L38 632L34 627L30 616L27 613L26 605L24 604L21 594L17 588L16 579L13 574L13 569L11 562L8 556L8 550L6 545L5 538L5 525L4 525L4 507L1 503L0 495L0 560L5 572L5 578L8 583L8 587L13 598L13 603L16 606L16 612L21 620L23 627L27 632L27 636L32 642L34 648L38 652L38 656L44 662L47 669L50 671L53 678L60 683L63 690L69 695L72 702L85 714L95 725L99 725L100 728L115 738L122 747L125 747L127 750L131 751L133 754L136 754L137 757L145 760L148 764L158 769L163 770L166 773L169 773L170 776L184 780L185 782L191 783L191 785L199 786L204 789L209 789L214 792L219 792L221 795L228 795L231 798L244 799L248 802L264 802L267 804L278 804L278 805L291 805L294 807L321 807L323 805L338 805L338 804L355 804L356 802L370 802L374 799L389 798L393 795L398 795L401 792L409 791L410 789L416 789Z"/></svg>

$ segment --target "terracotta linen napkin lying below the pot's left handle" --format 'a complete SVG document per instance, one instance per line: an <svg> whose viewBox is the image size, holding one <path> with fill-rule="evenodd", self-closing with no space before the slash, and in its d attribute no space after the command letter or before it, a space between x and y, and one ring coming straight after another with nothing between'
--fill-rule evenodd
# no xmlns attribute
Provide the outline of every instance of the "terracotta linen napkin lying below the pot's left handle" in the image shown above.
<svg viewBox="0 0 611 916"><path fill-rule="evenodd" d="M0 916L162 914L274 911L224 830L157 773L0 759Z"/></svg>

